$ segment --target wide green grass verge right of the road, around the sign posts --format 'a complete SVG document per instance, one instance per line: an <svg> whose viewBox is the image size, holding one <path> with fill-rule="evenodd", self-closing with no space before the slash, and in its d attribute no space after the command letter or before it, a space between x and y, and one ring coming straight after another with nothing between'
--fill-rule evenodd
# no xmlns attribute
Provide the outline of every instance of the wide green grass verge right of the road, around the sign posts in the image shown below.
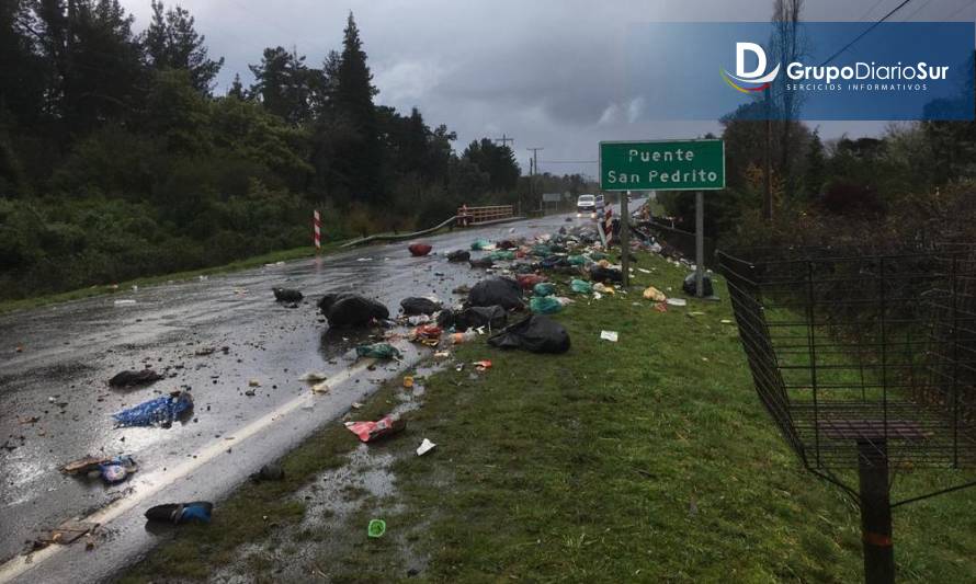
<svg viewBox="0 0 976 584"><path fill-rule="evenodd" d="M637 274L639 287L680 289L681 270L647 255L638 265L655 270ZM781 439L735 328L720 323L731 314L724 283L717 288L722 302L667 313L636 290L579 299L556 316L572 339L565 355L458 347L458 360L488 358L493 367L474 379L467 365L425 380L407 433L382 447L398 457L396 493L366 497L337 527L351 543L322 543L313 564L329 566L337 582L400 580L418 561L418 577L433 582L861 580L858 509L803 471ZM620 342L601 341L601 330L617 331ZM388 409L396 391L383 389L373 413ZM333 425L319 436L330 432L345 431ZM313 451L327 444L319 436ZM322 459L329 465L341 463L341 445L354 446L351 435L336 437ZM417 458L423 437L438 448ZM251 491L259 486L246 486L213 525L181 533L126 581L174 564L184 566L175 575L194 577L231 561L236 545L266 539L264 530L232 526L282 504L314 476L321 462L302 454L309 447L285 459L304 469L290 484L261 485L273 492L260 497ZM896 499L962 480L904 471ZM373 516L387 522L381 540L365 538ZM976 580L971 493L897 508L894 539L900 581Z"/></svg>

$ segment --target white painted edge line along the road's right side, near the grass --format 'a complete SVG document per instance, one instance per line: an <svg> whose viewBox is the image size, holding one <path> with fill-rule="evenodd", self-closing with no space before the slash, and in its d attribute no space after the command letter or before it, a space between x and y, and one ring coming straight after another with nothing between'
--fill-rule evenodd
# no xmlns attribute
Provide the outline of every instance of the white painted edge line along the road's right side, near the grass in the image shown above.
<svg viewBox="0 0 976 584"><path fill-rule="evenodd" d="M363 359L361 363L347 368L343 371L336 374L336 376L326 379L326 383L330 388L334 388L338 385L348 381L354 375L361 373L362 370L368 368L371 365L375 364L376 359ZM310 390L309 390L310 391ZM240 430L234 432L234 444L240 444L241 442L248 439L249 437L258 434L262 430L270 426L274 423L279 417L287 415L295 410L302 408L308 401L308 394L303 392L297 398L283 403L275 410L262 415L261 417L254 420L250 424L243 426ZM144 490L134 493L130 496L125 499L116 500L99 511L92 513L88 517L82 518L82 522L97 523L99 525L107 525L110 522L118 518L123 513L130 511L136 505L140 504L147 497L157 492L161 491L163 488L169 486L174 483L179 479L185 478L191 474L200 467L209 462L211 460L217 458L222 454L227 451L227 442L226 440L215 440L209 446L204 448L196 458L186 460L182 465L178 466L173 469L172 474L168 473L167 482L160 482L159 484L154 484L146 486ZM46 548L35 551L29 554L18 554L13 559L9 560L3 565L0 565L0 583L10 582L15 577L23 575L29 570L36 568L37 565L44 563L45 561L53 558L59 551L68 549L69 546L59 546L57 543L52 543Z"/></svg>

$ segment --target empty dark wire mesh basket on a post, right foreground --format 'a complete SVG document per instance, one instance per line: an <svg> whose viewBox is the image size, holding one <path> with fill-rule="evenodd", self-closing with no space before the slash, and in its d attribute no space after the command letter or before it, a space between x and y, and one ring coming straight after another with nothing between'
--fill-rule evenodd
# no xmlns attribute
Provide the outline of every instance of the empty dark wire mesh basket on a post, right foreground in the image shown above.
<svg viewBox="0 0 976 584"><path fill-rule="evenodd" d="M807 467L976 466L973 250L718 262L759 397Z"/></svg>

